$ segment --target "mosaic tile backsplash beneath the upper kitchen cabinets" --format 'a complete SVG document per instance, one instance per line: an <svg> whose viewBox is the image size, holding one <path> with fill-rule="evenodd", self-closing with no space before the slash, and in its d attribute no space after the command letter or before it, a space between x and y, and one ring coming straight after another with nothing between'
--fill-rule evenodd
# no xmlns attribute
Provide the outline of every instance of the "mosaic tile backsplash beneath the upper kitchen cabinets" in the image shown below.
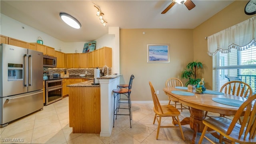
<svg viewBox="0 0 256 144"><path fill-rule="evenodd" d="M95 68L44 68L44 70L47 70L50 72L50 76L54 73L60 73L60 72L68 72L69 75L79 75L79 74L86 74L86 75L94 75L94 69ZM102 68L99 68L100 72L102 71ZM107 75L107 73L110 75L112 74L112 68L108 68L108 72L105 68L104 75Z"/></svg>

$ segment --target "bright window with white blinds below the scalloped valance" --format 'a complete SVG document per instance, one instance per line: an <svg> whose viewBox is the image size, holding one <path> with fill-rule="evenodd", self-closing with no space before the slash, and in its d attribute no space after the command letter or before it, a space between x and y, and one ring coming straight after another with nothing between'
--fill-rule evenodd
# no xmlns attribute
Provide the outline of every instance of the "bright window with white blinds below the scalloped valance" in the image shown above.
<svg viewBox="0 0 256 144"><path fill-rule="evenodd" d="M242 81L250 84L256 94L256 42L238 49L231 48L228 53L218 52L212 56L213 90L220 91L228 81Z"/></svg>

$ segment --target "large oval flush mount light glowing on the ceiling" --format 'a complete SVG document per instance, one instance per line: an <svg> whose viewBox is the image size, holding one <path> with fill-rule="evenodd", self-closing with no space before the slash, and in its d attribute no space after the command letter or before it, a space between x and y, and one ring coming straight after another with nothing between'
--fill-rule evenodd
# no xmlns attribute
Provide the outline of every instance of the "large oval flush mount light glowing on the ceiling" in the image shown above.
<svg viewBox="0 0 256 144"><path fill-rule="evenodd" d="M81 28L81 24L80 22L74 18L73 16L71 16L70 14L67 14L65 12L60 12L60 18L69 26L79 29Z"/></svg>

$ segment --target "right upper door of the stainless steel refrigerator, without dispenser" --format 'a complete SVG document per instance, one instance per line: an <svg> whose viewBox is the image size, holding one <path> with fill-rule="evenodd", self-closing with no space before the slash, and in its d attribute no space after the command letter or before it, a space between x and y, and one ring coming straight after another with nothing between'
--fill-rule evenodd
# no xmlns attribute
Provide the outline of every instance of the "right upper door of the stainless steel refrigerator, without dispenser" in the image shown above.
<svg viewBox="0 0 256 144"><path fill-rule="evenodd" d="M28 92L43 89L43 53L28 49Z"/></svg>

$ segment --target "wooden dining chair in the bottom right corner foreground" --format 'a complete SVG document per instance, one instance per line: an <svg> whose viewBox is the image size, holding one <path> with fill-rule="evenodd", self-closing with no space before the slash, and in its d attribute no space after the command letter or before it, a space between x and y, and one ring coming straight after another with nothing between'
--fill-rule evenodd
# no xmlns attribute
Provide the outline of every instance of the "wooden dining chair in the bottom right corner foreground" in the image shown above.
<svg viewBox="0 0 256 144"><path fill-rule="evenodd" d="M223 138L231 140L231 144L238 142L240 144L256 144L256 94L250 96L238 109L233 120L225 117L212 117L203 120L204 130L199 140L202 143L203 138L215 144L205 136L208 128L212 129L207 133L220 133L219 142L222 144ZM244 116L241 123L238 124L240 116Z"/></svg>

